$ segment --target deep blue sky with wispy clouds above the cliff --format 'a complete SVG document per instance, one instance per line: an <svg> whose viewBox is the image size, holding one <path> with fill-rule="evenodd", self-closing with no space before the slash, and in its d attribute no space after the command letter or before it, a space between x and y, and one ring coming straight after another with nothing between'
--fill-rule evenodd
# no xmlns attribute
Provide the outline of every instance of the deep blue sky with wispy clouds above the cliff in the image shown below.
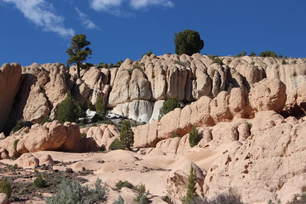
<svg viewBox="0 0 306 204"><path fill-rule="evenodd" d="M0 64L61 62L74 34L93 64L175 53L174 34L200 33L201 54L306 57L305 0L0 0Z"/></svg>

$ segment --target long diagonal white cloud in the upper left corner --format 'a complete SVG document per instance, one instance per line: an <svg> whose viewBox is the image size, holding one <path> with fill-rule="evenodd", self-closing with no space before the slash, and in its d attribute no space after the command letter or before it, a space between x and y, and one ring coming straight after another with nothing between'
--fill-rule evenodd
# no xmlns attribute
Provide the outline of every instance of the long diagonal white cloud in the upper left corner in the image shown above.
<svg viewBox="0 0 306 204"><path fill-rule="evenodd" d="M51 3L45 0L2 0L15 4L24 17L28 18L35 25L43 28L44 31L55 32L62 37L74 35L72 28L64 27L64 17L55 14L55 9Z"/></svg>

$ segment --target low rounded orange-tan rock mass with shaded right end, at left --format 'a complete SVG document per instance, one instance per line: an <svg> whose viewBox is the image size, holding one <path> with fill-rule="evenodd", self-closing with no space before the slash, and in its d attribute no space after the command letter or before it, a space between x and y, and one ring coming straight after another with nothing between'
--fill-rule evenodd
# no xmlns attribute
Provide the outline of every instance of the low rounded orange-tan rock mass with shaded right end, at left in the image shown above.
<svg viewBox="0 0 306 204"><path fill-rule="evenodd" d="M65 122L62 124L59 121L53 121L32 128L28 133L26 133L26 129L27 127L24 127L24 132L20 132L19 135L11 135L0 141L0 147L9 157L14 157L17 153L25 154L47 150L88 152L100 149L94 139L81 138L76 123ZM19 142L16 151L14 142L17 139Z"/></svg>

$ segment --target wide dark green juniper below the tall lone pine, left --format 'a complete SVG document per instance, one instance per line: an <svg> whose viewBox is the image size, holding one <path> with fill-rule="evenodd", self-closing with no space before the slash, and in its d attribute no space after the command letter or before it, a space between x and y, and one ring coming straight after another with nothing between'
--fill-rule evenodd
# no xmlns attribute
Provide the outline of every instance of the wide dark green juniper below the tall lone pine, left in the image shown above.
<svg viewBox="0 0 306 204"><path fill-rule="evenodd" d="M79 118L86 117L79 102L75 102L70 91L67 92L66 98L58 105L58 120L64 124L68 122L79 122Z"/></svg>

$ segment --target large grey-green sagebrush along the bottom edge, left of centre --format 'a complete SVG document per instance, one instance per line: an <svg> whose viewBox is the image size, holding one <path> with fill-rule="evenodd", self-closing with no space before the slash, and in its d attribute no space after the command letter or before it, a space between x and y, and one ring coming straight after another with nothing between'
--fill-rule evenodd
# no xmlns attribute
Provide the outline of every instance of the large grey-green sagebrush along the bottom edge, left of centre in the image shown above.
<svg viewBox="0 0 306 204"><path fill-rule="evenodd" d="M101 186L99 178L95 182L95 188L92 189L89 189L88 185L81 186L77 181L64 178L56 194L45 199L48 204L102 203L106 201L107 193L106 185Z"/></svg>

